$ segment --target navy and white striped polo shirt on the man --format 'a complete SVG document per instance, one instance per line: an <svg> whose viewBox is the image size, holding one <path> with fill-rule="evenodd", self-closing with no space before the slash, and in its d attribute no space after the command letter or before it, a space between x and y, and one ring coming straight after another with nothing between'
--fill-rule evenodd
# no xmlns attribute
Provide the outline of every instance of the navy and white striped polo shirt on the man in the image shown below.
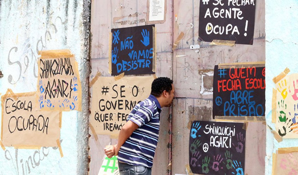
<svg viewBox="0 0 298 175"><path fill-rule="evenodd" d="M156 97L150 95L137 104L127 121L139 126L121 146L118 160L130 165L152 167L159 134L161 107Z"/></svg>

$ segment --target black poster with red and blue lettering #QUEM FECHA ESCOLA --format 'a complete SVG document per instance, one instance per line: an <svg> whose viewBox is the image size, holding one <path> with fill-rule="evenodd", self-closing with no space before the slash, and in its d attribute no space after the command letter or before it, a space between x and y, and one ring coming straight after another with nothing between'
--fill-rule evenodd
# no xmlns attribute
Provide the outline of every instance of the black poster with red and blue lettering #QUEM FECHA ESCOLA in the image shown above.
<svg viewBox="0 0 298 175"><path fill-rule="evenodd" d="M265 67L214 67L215 116L265 116Z"/></svg>

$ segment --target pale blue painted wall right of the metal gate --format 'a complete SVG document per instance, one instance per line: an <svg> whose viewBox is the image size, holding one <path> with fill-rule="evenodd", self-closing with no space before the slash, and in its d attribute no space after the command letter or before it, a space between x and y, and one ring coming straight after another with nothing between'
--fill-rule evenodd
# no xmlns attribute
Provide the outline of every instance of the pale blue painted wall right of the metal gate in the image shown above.
<svg viewBox="0 0 298 175"><path fill-rule="evenodd" d="M298 34L297 21L298 3L296 0L284 1L266 0L266 123L275 128L271 121L272 79L290 69L289 74L298 72ZM287 18L284 18L284 17ZM272 153L278 148L297 147L297 139L283 139L278 143L269 127L266 135L266 175L272 172Z"/></svg>

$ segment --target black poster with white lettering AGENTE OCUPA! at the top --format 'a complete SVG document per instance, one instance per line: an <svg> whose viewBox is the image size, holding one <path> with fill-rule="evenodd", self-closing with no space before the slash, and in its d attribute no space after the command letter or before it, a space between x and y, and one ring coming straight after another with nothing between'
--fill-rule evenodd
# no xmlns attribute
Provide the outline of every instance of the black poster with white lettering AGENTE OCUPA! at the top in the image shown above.
<svg viewBox="0 0 298 175"><path fill-rule="evenodd" d="M200 0L199 37L252 44L256 0Z"/></svg>

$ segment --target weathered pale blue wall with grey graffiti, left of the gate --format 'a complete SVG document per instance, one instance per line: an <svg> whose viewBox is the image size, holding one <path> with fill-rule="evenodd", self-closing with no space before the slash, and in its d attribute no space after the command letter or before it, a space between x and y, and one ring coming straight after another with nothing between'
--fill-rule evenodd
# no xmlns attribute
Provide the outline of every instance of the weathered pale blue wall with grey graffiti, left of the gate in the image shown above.
<svg viewBox="0 0 298 175"><path fill-rule="evenodd" d="M38 51L53 49L75 54L83 92L82 112L63 112L60 142L64 157L57 147L6 147L0 150L0 174L86 174L89 9L88 1L0 1L0 70L4 75L0 93L5 94L7 88L15 93L36 91Z"/></svg>

